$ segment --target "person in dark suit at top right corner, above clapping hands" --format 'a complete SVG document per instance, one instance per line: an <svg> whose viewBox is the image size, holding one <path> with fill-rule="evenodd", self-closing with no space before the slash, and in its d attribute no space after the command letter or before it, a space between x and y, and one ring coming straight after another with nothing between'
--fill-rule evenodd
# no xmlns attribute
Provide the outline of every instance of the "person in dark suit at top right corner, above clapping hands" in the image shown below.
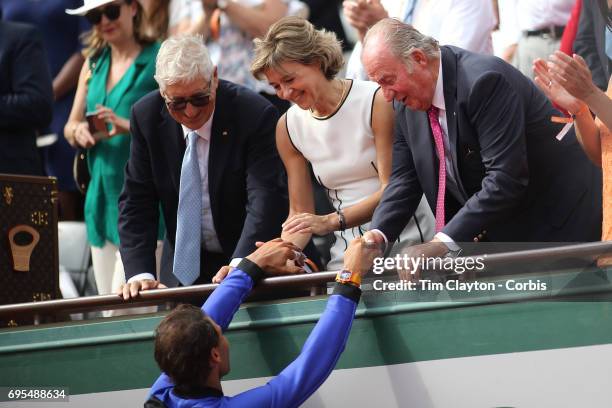
<svg viewBox="0 0 612 408"><path fill-rule="evenodd" d="M601 90L606 90L610 79L612 58L612 33L606 30L606 20L600 9L607 2L583 0L578 33L574 40L574 52L586 61L593 76L593 82Z"/></svg>

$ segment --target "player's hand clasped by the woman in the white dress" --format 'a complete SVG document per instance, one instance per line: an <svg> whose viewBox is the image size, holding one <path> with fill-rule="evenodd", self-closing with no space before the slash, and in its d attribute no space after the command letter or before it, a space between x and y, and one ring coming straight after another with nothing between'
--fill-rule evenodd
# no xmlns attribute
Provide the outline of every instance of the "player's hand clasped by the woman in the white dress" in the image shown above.
<svg viewBox="0 0 612 408"><path fill-rule="evenodd" d="M257 250L246 258L257 264L270 275L287 275L303 273L304 269L289 260L300 261L303 257L302 249L291 242L280 238L266 243L258 242Z"/></svg>

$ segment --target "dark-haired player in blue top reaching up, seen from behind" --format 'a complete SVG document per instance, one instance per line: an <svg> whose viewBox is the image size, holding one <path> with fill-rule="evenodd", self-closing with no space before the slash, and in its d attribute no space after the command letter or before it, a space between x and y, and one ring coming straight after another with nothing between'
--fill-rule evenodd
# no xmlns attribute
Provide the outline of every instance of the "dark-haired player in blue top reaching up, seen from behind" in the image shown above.
<svg viewBox="0 0 612 408"><path fill-rule="evenodd" d="M300 355L267 384L233 397L223 394L221 378L229 372L229 344L223 331L242 300L264 274L295 273L288 259L300 249L280 238L260 244L210 295L202 309L181 305L159 324L155 360L163 371L145 408L158 407L297 407L334 369L351 330L362 271L362 239L351 242L325 311Z"/></svg>

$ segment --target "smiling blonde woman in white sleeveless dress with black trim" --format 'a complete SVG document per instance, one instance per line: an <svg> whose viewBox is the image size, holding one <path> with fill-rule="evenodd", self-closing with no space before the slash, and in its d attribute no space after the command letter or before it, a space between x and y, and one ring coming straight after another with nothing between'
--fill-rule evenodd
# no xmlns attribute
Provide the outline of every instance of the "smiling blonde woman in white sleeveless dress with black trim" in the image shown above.
<svg viewBox="0 0 612 408"><path fill-rule="evenodd" d="M294 105L276 127L276 145L289 183L289 217L281 237L300 247L312 234L333 232L327 270L342 268L350 241L369 228L391 174L394 114L377 84L336 78L343 65L333 33L286 17L255 40L251 71L264 77L279 98ZM336 210L314 213L308 163ZM433 216L425 201L404 229L402 242L433 236Z"/></svg>

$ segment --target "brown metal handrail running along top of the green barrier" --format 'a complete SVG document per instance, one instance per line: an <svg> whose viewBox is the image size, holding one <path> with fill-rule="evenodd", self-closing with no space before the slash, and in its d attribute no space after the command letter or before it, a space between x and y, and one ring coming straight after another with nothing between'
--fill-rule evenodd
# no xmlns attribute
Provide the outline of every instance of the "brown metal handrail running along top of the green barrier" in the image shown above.
<svg viewBox="0 0 612 408"><path fill-rule="evenodd" d="M491 254L487 255L486 262L489 266L514 264L518 262L534 262L539 260L594 257L604 254L612 254L612 241ZM280 288L308 288L322 285L333 281L335 276L335 272L318 272L304 275L270 277L262 279L257 284L257 287L253 291L253 296L262 293L270 293L271 290ZM117 309L162 304L164 302L184 300L186 298L204 299L206 296L210 295L217 286L217 284L207 284L172 289L148 290L141 292L137 298L129 301L124 301L123 298L118 295L99 295L62 300L47 300L42 302L18 303L0 306L0 317Z"/></svg>

